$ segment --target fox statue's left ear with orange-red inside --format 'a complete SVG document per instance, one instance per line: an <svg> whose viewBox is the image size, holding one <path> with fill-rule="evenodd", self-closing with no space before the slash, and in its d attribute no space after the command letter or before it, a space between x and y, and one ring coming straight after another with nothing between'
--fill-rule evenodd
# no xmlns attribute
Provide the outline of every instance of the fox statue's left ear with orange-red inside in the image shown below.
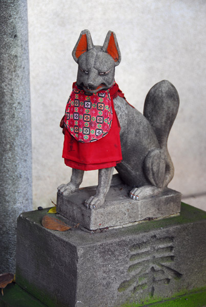
<svg viewBox="0 0 206 307"><path fill-rule="evenodd" d="M89 30L81 31L79 39L77 40L74 50L72 51L72 56L75 62L78 62L78 58L81 54L92 49L93 47L94 45Z"/></svg>

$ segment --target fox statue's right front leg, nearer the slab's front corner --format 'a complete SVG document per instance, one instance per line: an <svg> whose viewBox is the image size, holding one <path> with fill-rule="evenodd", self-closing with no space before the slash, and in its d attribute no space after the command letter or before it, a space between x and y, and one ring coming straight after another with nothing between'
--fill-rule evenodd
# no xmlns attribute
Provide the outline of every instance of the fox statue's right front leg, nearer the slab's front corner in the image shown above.
<svg viewBox="0 0 206 307"><path fill-rule="evenodd" d="M89 209L100 207L105 202L105 197L109 191L114 167L102 168L98 172L98 186L96 194L91 196L85 202L85 206Z"/></svg>

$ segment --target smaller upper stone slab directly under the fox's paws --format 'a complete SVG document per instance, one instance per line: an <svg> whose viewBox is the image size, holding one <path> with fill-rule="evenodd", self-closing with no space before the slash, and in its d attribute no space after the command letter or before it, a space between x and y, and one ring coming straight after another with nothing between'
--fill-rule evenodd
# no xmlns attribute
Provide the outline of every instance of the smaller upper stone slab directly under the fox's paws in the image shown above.
<svg viewBox="0 0 206 307"><path fill-rule="evenodd" d="M131 189L126 184L111 186L104 205L95 209L87 209L84 202L95 194L96 187L79 189L70 196L57 193L56 211L89 230L122 226L180 212L180 192L165 188L157 196L134 201L129 198Z"/></svg>

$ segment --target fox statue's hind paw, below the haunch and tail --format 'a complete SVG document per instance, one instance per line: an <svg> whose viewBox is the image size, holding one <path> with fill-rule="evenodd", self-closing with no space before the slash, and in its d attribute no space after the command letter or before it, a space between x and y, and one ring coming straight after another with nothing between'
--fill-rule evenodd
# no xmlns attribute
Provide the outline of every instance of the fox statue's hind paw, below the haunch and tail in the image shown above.
<svg viewBox="0 0 206 307"><path fill-rule="evenodd" d="M130 191L130 198L133 200L142 200L149 196L155 196L161 192L160 188L155 186L142 186L140 188L134 188Z"/></svg>

